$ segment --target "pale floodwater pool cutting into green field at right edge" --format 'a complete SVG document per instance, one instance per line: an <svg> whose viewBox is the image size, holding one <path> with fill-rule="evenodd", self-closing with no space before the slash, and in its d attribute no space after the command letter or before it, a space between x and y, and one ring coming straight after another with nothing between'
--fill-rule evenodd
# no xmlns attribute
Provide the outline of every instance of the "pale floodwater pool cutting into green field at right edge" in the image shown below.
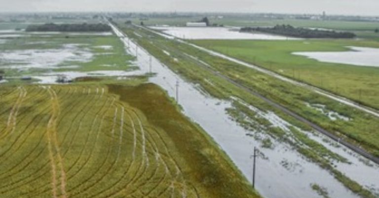
<svg viewBox="0 0 379 198"><path fill-rule="evenodd" d="M379 67L379 49L368 47L348 47L347 52L295 52L293 54L316 59L320 62L354 66Z"/></svg>

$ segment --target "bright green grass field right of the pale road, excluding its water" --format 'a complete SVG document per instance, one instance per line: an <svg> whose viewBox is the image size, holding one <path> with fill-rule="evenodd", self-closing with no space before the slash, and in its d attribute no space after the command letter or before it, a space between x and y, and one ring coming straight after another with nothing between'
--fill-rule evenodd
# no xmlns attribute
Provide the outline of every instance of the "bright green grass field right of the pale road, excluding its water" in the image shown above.
<svg viewBox="0 0 379 198"><path fill-rule="evenodd" d="M193 42L379 108L378 67L322 63L292 54L293 52L347 51L345 46L379 48L378 42L363 40L196 40Z"/></svg>

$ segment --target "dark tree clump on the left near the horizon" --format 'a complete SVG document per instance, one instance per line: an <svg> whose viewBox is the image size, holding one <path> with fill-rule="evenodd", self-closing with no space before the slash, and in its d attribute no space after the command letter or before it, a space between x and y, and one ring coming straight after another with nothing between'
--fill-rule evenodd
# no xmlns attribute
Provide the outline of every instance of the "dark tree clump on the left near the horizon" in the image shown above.
<svg viewBox="0 0 379 198"><path fill-rule="evenodd" d="M30 25L26 32L110 32L112 28L103 23L97 24L54 24Z"/></svg>

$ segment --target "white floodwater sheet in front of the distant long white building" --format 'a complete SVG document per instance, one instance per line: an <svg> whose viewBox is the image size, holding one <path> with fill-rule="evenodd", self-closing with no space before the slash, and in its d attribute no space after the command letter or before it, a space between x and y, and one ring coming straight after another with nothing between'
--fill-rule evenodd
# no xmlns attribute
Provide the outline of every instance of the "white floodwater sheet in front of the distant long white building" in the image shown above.
<svg viewBox="0 0 379 198"><path fill-rule="evenodd" d="M239 29L231 28L192 28L192 27L152 27L163 33L183 39L255 39L255 40L287 40L295 39L286 36L264 33L240 33Z"/></svg>

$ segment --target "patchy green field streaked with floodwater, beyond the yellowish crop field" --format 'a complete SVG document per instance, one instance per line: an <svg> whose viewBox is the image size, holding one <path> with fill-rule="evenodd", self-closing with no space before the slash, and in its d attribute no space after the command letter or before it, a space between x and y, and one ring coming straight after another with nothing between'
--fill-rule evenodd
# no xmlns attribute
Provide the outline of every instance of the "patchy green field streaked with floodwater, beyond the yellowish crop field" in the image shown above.
<svg viewBox="0 0 379 198"><path fill-rule="evenodd" d="M27 33L2 30L0 69L6 79L31 77L39 83L56 83L58 76L67 79L86 76L124 76L129 60L122 43L113 33ZM22 38L13 39L12 36ZM48 37L48 38L46 38Z"/></svg>

